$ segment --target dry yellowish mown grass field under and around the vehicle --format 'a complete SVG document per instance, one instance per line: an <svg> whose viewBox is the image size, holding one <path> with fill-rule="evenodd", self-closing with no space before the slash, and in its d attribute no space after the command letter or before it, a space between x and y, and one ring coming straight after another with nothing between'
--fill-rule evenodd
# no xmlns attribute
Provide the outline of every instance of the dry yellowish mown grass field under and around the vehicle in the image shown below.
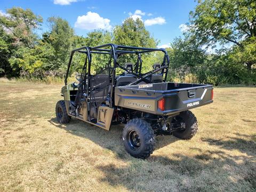
<svg viewBox="0 0 256 192"><path fill-rule="evenodd" d="M60 85L0 82L0 191L255 191L256 88L214 89L194 109L191 140L156 137L148 159L126 153L122 127L60 125Z"/></svg>

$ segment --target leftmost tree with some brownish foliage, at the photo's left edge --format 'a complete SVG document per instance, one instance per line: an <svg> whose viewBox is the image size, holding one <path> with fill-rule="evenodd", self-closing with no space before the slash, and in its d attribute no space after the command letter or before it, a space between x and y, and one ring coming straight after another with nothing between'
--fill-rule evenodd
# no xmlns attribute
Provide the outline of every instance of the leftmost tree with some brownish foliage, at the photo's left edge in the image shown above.
<svg viewBox="0 0 256 192"><path fill-rule="evenodd" d="M20 67L10 63L10 58L16 58L17 50L24 46L35 46L37 36L34 30L39 28L42 21L30 9L20 7L7 9L6 14L0 15L0 75L19 74Z"/></svg>

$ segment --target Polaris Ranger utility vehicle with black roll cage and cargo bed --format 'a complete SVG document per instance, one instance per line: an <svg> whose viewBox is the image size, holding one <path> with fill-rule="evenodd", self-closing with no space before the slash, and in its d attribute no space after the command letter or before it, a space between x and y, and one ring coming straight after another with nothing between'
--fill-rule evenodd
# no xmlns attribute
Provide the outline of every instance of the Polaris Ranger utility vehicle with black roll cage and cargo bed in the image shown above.
<svg viewBox="0 0 256 192"><path fill-rule="evenodd" d="M142 73L142 55L156 52L162 52L162 63L152 63L152 70ZM67 83L74 53L85 54L85 62L76 75L78 82ZM103 55L108 59L101 62ZM102 66L97 70L93 68L96 57ZM125 63L129 58L135 62ZM105 44L73 50L61 89L64 99L55 108L57 120L68 123L74 117L105 130L124 124L126 151L144 159L153 153L156 135L191 139L197 120L189 109L213 102L213 87L166 82L168 66L164 49Z"/></svg>

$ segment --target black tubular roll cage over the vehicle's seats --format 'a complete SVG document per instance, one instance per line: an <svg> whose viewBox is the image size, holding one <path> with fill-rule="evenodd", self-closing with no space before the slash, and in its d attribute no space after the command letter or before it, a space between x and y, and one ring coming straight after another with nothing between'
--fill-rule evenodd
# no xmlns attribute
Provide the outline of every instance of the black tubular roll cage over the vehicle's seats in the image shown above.
<svg viewBox="0 0 256 192"><path fill-rule="evenodd" d="M164 53L163 62L160 68L150 70L145 74L141 73L142 68L142 60L141 60L141 54L142 53L149 53L149 52L155 52L155 51L161 51ZM167 51L165 49L155 49L155 48L145 48L145 47L135 47L135 46L124 46L124 45L116 45L116 44L105 44L95 47L89 47L89 46L83 46L78 49L75 49L71 51L70 59L68 62L68 68L67 73L65 77L65 85L67 85L67 78L69 74L70 65L73 59L73 55L75 52L85 53L86 59L84 63L84 79L82 83L82 89L87 90L87 95L89 95L89 86L90 86L90 77L91 74L91 62L92 62L92 54L109 54L111 55L109 60L109 65L111 65L111 60L113 59L113 70L111 71L111 74L109 74L109 77L111 77L111 90L110 90L110 98L113 98L113 91L115 87L115 76L116 76L116 68L123 69L129 74L134 75L137 77L137 80L135 82L130 83L129 85L135 85L140 82L146 82L146 83L153 83L150 81L149 77L158 71L161 71L161 74L163 75L163 81L166 81L167 73L168 73L168 67L169 67L169 56L167 54ZM135 64L135 71L131 71L129 69L124 68L123 66L119 65L117 62L117 59L122 54L135 54L137 55L137 63ZM135 72L135 73L134 73ZM87 82L87 83L86 83ZM112 99L110 100L110 107L112 107Z"/></svg>

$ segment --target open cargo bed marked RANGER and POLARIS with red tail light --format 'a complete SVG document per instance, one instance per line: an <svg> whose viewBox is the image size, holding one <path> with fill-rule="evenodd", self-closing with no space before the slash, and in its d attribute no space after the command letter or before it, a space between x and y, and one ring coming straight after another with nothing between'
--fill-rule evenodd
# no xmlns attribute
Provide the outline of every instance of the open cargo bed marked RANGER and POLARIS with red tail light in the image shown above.
<svg viewBox="0 0 256 192"><path fill-rule="evenodd" d="M156 115L175 115L209 104L213 102L212 97L213 86L206 84L152 83L115 87L116 106Z"/></svg>

